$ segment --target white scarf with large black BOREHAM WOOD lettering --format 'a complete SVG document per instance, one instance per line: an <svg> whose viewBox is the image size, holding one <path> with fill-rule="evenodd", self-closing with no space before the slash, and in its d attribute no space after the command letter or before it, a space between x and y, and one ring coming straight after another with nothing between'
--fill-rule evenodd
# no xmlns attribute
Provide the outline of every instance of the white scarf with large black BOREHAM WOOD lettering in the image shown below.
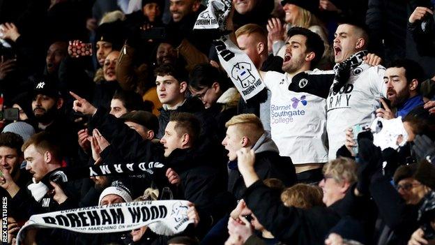
<svg viewBox="0 0 435 245"><path fill-rule="evenodd" d="M18 232L17 244L30 228L62 228L82 233L123 232L144 225L158 225L173 234L183 232L188 224L188 201L158 200L125 202L107 207L82 207L36 214ZM159 228L159 229L160 229Z"/></svg>

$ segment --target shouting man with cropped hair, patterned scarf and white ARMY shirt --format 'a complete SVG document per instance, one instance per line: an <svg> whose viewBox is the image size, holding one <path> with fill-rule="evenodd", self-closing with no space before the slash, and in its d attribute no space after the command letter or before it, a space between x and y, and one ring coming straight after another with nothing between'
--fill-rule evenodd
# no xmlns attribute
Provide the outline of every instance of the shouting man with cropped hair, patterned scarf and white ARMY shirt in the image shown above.
<svg viewBox="0 0 435 245"><path fill-rule="evenodd" d="M337 149L344 144L346 129L370 124L379 98L386 97L386 69L363 62L367 45L363 23L339 24L333 43L335 66L325 77L329 84L333 81L326 99L329 159L336 158Z"/></svg>

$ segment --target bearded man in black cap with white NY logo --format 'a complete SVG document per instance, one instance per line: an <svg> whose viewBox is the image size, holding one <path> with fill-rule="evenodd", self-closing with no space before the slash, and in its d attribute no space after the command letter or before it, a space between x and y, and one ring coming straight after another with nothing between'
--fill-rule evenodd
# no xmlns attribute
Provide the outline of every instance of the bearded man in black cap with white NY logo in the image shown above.
<svg viewBox="0 0 435 245"><path fill-rule="evenodd" d="M62 113L63 98L48 77L36 80L31 107L38 123L36 131L53 133L61 142L61 151L68 165L77 156L77 129Z"/></svg>

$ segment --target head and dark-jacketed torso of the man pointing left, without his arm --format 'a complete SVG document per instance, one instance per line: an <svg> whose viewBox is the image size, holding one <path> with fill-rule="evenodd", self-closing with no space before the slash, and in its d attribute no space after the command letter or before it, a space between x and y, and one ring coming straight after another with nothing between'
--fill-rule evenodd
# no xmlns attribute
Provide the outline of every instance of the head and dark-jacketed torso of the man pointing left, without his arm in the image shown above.
<svg viewBox="0 0 435 245"><path fill-rule="evenodd" d="M180 176L179 198L193 202L203 221L202 228L209 228L232 204L229 194L225 194L226 178L217 146L200 138L200 131L199 119L193 114L174 113L160 142L165 147L167 166Z"/></svg>

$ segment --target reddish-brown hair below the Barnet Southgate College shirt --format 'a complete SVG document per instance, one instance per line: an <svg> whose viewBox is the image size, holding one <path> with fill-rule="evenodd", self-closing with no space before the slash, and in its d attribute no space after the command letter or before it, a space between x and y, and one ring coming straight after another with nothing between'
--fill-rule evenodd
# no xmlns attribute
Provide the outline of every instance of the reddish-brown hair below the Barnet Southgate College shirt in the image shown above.
<svg viewBox="0 0 435 245"><path fill-rule="evenodd" d="M315 206L323 206L323 191L319 186L309 184L296 184L281 193L281 201L286 207L298 207L310 209Z"/></svg>

